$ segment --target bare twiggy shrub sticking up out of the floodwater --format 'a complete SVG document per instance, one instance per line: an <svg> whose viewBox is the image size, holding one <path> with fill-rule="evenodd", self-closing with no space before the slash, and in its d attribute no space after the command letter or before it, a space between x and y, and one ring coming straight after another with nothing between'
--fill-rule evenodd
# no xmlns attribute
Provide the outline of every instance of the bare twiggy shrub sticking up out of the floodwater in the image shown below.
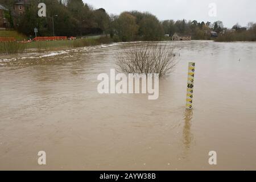
<svg viewBox="0 0 256 182"><path fill-rule="evenodd" d="M164 77L174 70L175 58L173 47L148 43L119 52L116 64L122 72L159 73L159 77Z"/></svg>

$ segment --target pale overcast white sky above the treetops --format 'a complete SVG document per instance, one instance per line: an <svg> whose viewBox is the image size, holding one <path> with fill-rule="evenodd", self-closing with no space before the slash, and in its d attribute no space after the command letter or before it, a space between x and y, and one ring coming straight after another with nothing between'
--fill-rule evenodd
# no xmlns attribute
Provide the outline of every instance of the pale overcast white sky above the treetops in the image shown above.
<svg viewBox="0 0 256 182"><path fill-rule="evenodd" d="M221 20L231 28L240 23L247 26L256 22L255 0L83 0L94 8L104 8L109 14L120 14L127 10L148 11L160 20L187 19L214 22ZM209 4L216 3L217 16L209 16Z"/></svg>

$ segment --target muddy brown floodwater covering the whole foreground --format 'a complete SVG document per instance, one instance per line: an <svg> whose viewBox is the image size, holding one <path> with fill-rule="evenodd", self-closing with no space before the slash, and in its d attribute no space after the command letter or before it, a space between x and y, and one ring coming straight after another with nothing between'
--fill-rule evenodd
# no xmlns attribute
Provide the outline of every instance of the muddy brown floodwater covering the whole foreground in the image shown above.
<svg viewBox="0 0 256 182"><path fill-rule="evenodd" d="M0 169L255 170L256 43L162 42L180 56L160 79L158 100L98 94L98 74L135 44L142 43L0 56Z"/></svg>

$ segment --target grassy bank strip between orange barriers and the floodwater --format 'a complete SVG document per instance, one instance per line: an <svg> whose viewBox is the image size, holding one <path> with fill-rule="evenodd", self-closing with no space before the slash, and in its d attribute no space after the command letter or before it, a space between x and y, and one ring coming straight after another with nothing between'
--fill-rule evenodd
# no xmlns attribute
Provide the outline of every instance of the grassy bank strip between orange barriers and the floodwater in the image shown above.
<svg viewBox="0 0 256 182"><path fill-rule="evenodd" d="M97 46L100 44L112 43L111 38L98 38L98 39L77 39L77 40L56 40L56 41L39 41L31 43L0 43L0 53L2 54L14 54L22 53L27 49L36 49L38 52L49 51L61 48L72 47L86 47Z"/></svg>

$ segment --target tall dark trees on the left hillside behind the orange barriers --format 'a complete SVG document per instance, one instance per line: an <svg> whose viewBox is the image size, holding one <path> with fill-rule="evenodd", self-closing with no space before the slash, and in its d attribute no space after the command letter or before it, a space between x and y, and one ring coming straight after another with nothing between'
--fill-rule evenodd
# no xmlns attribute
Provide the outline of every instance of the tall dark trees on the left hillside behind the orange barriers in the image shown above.
<svg viewBox="0 0 256 182"><path fill-rule="evenodd" d="M9 22L15 30L34 36L34 28L38 28L38 36L53 35L53 18L56 36L78 36L101 34L109 26L109 15L104 9L94 10L82 0L30 0L26 1L24 14L15 14L15 0L0 0L10 11ZM39 18L38 4L46 3L47 17ZM57 15L57 16L55 16ZM53 18L52 18L53 16Z"/></svg>

